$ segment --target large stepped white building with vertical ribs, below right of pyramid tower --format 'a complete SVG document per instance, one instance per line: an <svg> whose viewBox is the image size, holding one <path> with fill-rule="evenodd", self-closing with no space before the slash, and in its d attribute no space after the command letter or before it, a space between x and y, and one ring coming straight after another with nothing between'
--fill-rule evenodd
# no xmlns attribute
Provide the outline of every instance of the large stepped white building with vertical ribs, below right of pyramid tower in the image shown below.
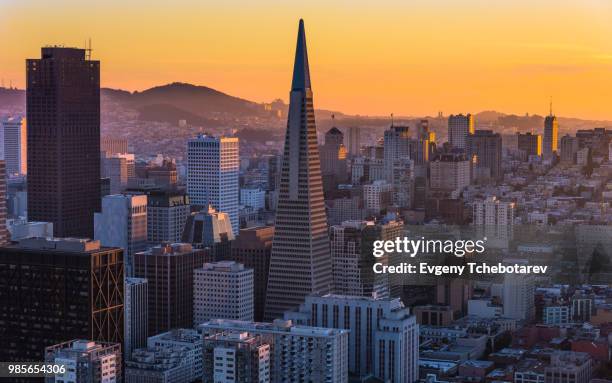
<svg viewBox="0 0 612 383"><path fill-rule="evenodd" d="M349 371L354 374L398 383L419 377L419 326L399 298L308 296L299 311L285 313L285 319L350 330Z"/></svg>

